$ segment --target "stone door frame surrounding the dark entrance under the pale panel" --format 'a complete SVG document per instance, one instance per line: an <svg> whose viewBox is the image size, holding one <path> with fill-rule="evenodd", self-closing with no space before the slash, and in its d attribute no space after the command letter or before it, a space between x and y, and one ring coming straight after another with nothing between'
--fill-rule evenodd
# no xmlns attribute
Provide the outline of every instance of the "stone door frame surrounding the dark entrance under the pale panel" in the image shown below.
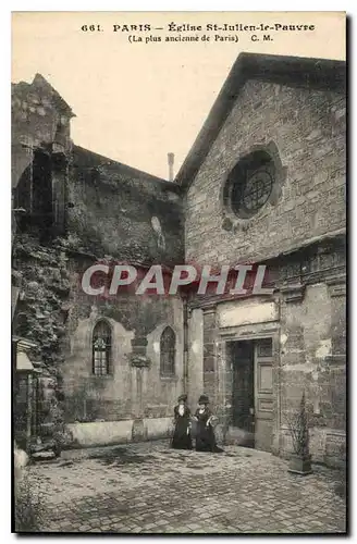
<svg viewBox="0 0 357 544"><path fill-rule="evenodd" d="M267 326L268 325L268 326ZM270 325L270 326L269 326ZM226 405L226 397L231 398L232 392L229 391L226 385L226 373L232 373L232 361L229 360L229 349L227 344L230 342L243 342L243 341L257 341L263 338L272 339L272 357L273 357L273 368L272 368L272 379L273 379L273 409L272 409L272 441L271 441L271 453L279 455L281 448L280 438L280 428L281 428L281 370L280 370L280 325L272 326L269 323L257 323L249 326L249 332L245 331L246 325L220 329L220 343L221 343L221 357L219 371L219 384L222 395L222 401ZM256 366L256 363L255 363ZM254 367L254 371L256 368ZM256 380L256 378L255 378ZM231 381L230 381L231 383ZM256 383L254 384L255 395L256 395ZM232 421L232 408L230 413L227 413L227 422Z"/></svg>

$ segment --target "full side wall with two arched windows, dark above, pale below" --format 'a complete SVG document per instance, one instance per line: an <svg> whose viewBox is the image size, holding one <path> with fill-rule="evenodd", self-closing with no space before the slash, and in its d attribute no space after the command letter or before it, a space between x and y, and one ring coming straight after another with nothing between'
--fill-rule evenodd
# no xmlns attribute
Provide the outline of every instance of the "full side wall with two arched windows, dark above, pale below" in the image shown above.
<svg viewBox="0 0 357 544"><path fill-rule="evenodd" d="M83 292L81 279L95 262L91 257L138 265L182 262L177 187L75 146L67 195L65 245L71 255L71 296L62 367L66 421L143 423L144 419L171 417L184 388L181 300L128 294L94 298ZM107 376L93 374L91 334L100 318L106 318L112 330L111 372ZM176 368L171 378L160 376L160 335L165 325L176 335ZM138 355L147 359L144 368L133 362L135 346L140 343L143 353ZM151 432L147 425L146 432ZM95 434L93 440L97 440Z"/></svg>

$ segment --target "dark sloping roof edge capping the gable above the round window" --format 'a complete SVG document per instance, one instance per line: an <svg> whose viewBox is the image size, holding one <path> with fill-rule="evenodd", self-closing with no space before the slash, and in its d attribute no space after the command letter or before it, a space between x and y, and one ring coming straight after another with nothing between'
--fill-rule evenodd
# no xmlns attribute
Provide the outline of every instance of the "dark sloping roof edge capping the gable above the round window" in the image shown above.
<svg viewBox="0 0 357 544"><path fill-rule="evenodd" d="M248 79L343 91L346 63L327 59L241 53L175 177L183 188L189 187Z"/></svg>

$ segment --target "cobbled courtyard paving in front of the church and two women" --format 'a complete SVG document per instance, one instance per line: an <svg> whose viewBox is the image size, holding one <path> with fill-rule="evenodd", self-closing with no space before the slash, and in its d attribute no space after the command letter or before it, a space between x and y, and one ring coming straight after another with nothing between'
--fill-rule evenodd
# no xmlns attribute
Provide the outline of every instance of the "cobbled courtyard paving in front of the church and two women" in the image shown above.
<svg viewBox="0 0 357 544"><path fill-rule="evenodd" d="M85 457L88 456L89 457ZM114 533L331 533L345 531L336 472L287 472L287 462L230 446L173 452L156 442L37 462L42 530Z"/></svg>

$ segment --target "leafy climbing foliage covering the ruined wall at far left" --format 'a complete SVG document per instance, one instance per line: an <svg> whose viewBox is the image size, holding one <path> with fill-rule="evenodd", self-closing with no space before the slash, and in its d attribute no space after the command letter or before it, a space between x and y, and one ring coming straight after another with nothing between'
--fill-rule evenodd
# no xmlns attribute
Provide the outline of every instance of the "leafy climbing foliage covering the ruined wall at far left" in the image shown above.
<svg viewBox="0 0 357 544"><path fill-rule="evenodd" d="M44 246L27 234L19 234L13 244L12 276L21 289L13 320L14 334L37 344L30 350L30 359L41 363L44 375L53 379L53 394L59 395L70 294L65 252L61 246ZM61 404L47 406L42 387L39 393L39 426L53 419L54 431L61 436ZM23 441L22 445L24 447Z"/></svg>

